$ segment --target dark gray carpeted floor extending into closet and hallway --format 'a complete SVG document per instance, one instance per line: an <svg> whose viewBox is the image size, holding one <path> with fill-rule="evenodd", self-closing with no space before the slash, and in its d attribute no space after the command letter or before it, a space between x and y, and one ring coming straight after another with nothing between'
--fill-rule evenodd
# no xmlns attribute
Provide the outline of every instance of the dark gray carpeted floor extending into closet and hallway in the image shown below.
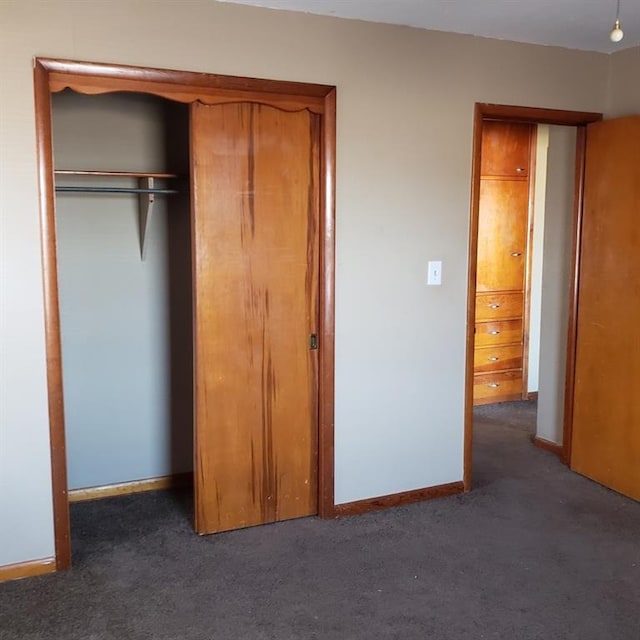
<svg viewBox="0 0 640 640"><path fill-rule="evenodd" d="M476 416L473 492L217 536L190 498L74 505L74 569L0 585L2 640L638 640L640 504Z"/></svg>

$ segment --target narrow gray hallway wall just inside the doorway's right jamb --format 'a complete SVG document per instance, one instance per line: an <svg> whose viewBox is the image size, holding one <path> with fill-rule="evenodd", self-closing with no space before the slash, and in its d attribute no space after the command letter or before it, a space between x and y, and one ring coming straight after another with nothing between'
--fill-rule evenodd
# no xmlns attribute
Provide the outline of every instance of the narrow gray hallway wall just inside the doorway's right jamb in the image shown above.
<svg viewBox="0 0 640 640"><path fill-rule="evenodd" d="M536 435L562 443L576 130L549 127Z"/></svg>

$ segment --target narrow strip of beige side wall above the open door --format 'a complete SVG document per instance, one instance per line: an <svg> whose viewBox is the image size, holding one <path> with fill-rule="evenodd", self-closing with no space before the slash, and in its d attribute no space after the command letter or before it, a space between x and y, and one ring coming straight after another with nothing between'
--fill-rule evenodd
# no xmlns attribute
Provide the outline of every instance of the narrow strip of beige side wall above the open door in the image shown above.
<svg viewBox="0 0 640 640"><path fill-rule="evenodd" d="M610 118L640 113L640 47L609 56L606 109Z"/></svg>

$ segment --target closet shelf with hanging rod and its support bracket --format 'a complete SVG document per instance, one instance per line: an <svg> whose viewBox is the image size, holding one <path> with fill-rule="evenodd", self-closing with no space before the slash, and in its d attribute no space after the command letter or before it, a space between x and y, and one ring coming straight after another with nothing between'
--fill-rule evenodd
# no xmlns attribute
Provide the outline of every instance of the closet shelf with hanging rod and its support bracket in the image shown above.
<svg viewBox="0 0 640 640"><path fill-rule="evenodd" d="M147 231L151 223L153 204L157 195L180 193L178 189L156 187L155 180L175 180L174 173L146 173L141 171L90 171L74 169L57 169L54 174L60 177L76 176L79 178L134 178L137 187L110 187L108 185L56 185L57 193L115 193L135 194L139 197L138 222L140 228L140 257L146 257Z"/></svg>

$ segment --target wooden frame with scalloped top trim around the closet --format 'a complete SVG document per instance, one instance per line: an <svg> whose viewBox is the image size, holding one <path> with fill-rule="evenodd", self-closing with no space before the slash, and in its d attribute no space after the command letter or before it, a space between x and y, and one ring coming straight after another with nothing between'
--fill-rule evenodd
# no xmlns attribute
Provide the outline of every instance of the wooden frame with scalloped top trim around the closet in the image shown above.
<svg viewBox="0 0 640 640"><path fill-rule="evenodd" d="M336 88L329 85L36 58L34 94L45 346L56 569L71 566L62 349L58 297L51 94L65 88L86 95L128 91L182 103L267 103L283 110L309 109L322 119L318 353L318 515L335 514L334 336Z"/></svg>

